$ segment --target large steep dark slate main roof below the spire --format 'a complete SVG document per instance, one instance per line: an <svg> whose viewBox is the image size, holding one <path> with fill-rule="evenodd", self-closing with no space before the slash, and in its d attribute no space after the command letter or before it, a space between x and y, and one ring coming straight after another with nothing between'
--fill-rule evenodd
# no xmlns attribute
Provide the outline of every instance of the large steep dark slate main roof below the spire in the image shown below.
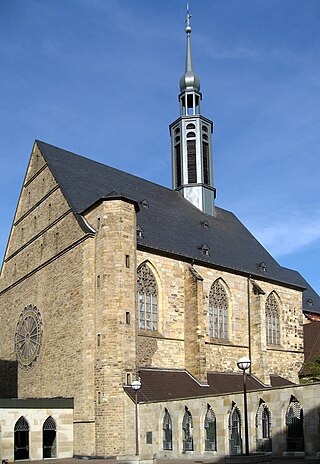
<svg viewBox="0 0 320 464"><path fill-rule="evenodd" d="M92 230L82 219L84 211L101 199L126 198L138 211L140 249L306 289L304 309L320 313L319 295L298 272L280 266L231 212L216 207L216 216L210 216L176 191L53 145L36 143L85 232ZM203 254L204 244L209 256Z"/></svg>

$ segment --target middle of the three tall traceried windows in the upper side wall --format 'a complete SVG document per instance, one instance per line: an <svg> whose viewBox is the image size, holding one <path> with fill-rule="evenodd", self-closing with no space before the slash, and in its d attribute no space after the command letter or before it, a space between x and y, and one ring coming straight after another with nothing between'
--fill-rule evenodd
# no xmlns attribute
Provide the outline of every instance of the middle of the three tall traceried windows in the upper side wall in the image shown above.
<svg viewBox="0 0 320 464"><path fill-rule="evenodd" d="M209 335L228 338L228 297L219 280L212 284L209 294Z"/></svg>

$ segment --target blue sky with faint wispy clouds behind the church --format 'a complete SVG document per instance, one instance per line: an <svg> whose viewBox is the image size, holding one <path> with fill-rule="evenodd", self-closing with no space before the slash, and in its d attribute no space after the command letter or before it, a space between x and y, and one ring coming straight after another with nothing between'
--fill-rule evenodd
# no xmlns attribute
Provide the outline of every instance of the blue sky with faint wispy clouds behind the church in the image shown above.
<svg viewBox="0 0 320 464"><path fill-rule="evenodd" d="M320 292L320 1L190 0L217 205ZM0 256L34 139L171 187L184 0L0 2Z"/></svg>

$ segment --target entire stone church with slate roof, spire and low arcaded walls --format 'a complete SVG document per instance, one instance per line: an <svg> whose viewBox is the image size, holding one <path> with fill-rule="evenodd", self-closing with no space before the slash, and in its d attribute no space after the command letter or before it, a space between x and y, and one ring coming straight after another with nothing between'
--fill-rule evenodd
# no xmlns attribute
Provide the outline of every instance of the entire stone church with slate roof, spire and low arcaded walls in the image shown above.
<svg viewBox="0 0 320 464"><path fill-rule="evenodd" d="M188 12L172 190L34 143L0 280L3 459L134 455L136 431L141 455L242 453L243 357L250 451L320 451L298 377L320 298L215 204L190 36Z"/></svg>

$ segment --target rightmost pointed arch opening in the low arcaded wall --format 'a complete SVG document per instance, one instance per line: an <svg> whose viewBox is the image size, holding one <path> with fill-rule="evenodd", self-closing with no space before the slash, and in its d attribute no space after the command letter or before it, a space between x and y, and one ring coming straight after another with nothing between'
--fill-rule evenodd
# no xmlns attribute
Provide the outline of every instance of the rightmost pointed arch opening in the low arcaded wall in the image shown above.
<svg viewBox="0 0 320 464"><path fill-rule="evenodd" d="M286 412L286 426L287 451L304 451L303 409L294 396Z"/></svg>

